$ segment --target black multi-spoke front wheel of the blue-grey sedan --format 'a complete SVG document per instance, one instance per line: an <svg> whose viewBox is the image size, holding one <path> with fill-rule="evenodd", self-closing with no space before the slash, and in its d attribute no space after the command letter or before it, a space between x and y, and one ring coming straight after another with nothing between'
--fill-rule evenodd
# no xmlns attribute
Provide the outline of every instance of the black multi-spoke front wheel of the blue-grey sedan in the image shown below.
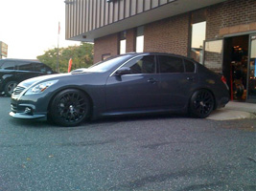
<svg viewBox="0 0 256 191"><path fill-rule="evenodd" d="M50 106L51 119L62 126L76 126L89 116L90 101L79 90L68 89L54 97Z"/></svg>

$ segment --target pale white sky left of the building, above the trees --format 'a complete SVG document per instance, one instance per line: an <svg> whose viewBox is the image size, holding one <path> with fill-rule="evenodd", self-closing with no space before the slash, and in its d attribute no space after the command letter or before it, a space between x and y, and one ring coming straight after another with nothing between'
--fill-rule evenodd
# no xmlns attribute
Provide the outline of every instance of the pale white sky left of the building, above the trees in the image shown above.
<svg viewBox="0 0 256 191"><path fill-rule="evenodd" d="M36 59L58 44L80 45L65 40L64 0L0 0L0 41L8 45L8 58L27 59Z"/></svg>

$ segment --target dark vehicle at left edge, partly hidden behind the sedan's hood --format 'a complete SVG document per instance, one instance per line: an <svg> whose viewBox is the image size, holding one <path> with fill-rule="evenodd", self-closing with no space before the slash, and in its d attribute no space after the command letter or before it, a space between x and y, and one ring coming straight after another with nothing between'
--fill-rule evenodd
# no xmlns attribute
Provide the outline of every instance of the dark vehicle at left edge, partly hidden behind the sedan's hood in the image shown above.
<svg viewBox="0 0 256 191"><path fill-rule="evenodd" d="M53 73L51 68L38 60L0 59L0 93L11 96L19 82L38 75Z"/></svg>

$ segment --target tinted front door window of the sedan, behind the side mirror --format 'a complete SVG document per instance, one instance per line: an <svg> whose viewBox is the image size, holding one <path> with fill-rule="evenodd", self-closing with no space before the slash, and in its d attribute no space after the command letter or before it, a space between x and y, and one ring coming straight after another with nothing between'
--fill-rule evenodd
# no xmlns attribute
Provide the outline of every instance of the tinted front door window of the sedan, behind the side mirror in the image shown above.
<svg viewBox="0 0 256 191"><path fill-rule="evenodd" d="M131 74L154 74L154 55L144 55L129 61L125 67L129 67Z"/></svg>

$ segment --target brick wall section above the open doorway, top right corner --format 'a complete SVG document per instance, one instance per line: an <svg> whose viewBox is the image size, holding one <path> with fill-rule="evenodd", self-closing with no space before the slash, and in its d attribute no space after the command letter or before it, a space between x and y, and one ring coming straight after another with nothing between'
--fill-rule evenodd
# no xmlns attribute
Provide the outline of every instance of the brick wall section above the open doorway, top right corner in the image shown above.
<svg viewBox="0 0 256 191"><path fill-rule="evenodd" d="M229 0L207 8L206 39L256 30L256 1Z"/></svg>

